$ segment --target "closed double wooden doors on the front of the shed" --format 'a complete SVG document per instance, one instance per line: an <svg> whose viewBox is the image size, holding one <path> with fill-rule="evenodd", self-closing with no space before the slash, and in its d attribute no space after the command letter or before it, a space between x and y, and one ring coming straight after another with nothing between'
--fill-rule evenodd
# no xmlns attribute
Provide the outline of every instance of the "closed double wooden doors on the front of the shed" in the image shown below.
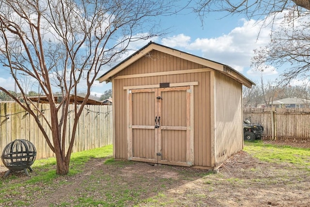
<svg viewBox="0 0 310 207"><path fill-rule="evenodd" d="M191 165L190 87L129 90L129 157Z"/></svg>

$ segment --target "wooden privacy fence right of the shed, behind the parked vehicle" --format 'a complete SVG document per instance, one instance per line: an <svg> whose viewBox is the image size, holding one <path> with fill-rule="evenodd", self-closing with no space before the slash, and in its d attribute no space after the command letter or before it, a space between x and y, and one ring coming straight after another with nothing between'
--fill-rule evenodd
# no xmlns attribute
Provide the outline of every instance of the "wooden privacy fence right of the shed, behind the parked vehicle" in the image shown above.
<svg viewBox="0 0 310 207"><path fill-rule="evenodd" d="M265 140L309 140L310 109L252 108L244 109L243 118L262 124Z"/></svg>

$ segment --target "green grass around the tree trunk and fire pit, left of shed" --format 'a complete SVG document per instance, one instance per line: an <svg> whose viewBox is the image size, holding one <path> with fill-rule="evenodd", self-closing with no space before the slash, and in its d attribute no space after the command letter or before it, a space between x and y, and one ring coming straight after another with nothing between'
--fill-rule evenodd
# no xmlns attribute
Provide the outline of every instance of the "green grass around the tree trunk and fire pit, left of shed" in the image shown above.
<svg viewBox="0 0 310 207"><path fill-rule="evenodd" d="M106 158L112 156L112 154L112 145L73 153L70 160L69 174L66 176L72 176L80 173L83 170L85 163L91 158ZM60 180L59 182L55 182L55 179L60 177L59 175L56 175L56 158L35 160L31 168L35 169L34 172L31 173L31 177L29 179L25 179L22 182L18 182L20 178L16 175L10 175L7 178L1 178L0 206L2 206L1 204L3 203L10 203L12 206L16 207L29 206L31 199L30 201L12 201L12 199L7 196L7 192L10 192L10 195L14 195L16 193L20 194L20 189L24 188L25 186L28 186L27 190L25 190L25 193L28 195L33 195L37 191L44 191L46 188L48 188L48 186L60 187L61 185L67 184L65 179ZM66 204L62 204L62 206L66 206Z"/></svg>

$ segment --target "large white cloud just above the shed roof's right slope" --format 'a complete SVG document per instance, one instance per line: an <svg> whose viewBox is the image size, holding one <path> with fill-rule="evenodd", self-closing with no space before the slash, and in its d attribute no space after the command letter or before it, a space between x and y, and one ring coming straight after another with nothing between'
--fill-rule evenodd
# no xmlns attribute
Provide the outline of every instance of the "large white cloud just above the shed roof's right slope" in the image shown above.
<svg viewBox="0 0 310 207"><path fill-rule="evenodd" d="M243 25L234 28L227 34L216 38L197 38L191 41L185 34L174 35L163 39L162 44L196 51L195 54L222 64L228 64L239 72L250 66L253 50L269 43L270 28L262 27L262 23L242 19ZM265 73L267 75L267 73Z"/></svg>

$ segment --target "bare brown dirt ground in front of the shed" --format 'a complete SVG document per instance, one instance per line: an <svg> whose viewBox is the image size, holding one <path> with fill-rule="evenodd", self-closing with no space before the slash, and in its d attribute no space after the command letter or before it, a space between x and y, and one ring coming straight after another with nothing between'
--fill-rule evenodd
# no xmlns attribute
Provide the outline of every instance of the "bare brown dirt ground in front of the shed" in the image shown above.
<svg viewBox="0 0 310 207"><path fill-rule="evenodd" d="M304 141L265 143L310 147ZM0 170L3 176L5 171ZM122 206L309 207L309 176L309 169L300 170L289 163L262 162L244 151L227 160L217 174L132 161L107 165L104 159L91 159L83 173L55 180L62 185L37 186L41 190L31 195L33 200L25 200L30 200L29 206L79 206L79 197L90 197L98 203L107 202L98 207L117 206L116 201L124 197L118 192L126 190L137 196L124 201Z"/></svg>

